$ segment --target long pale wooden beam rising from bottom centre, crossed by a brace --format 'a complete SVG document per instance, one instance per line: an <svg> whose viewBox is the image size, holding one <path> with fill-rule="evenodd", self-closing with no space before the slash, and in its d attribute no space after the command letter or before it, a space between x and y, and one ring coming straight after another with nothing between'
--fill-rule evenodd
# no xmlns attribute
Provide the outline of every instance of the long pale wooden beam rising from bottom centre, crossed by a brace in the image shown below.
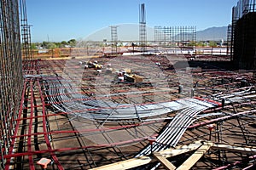
<svg viewBox="0 0 256 170"><path fill-rule="evenodd" d="M193 144L177 146L176 149L162 150L159 153L161 156L167 158L167 157L171 157L171 156L177 156L177 155L189 152L191 150L196 150L201 145L202 144L200 141L196 141ZM92 170L107 170L107 169L125 170L125 169L130 169L132 167L139 167L142 165L146 165L149 162L153 162L153 161L157 161L157 159L154 157L151 157L151 156L140 156L140 157L131 158L131 159L125 160L125 161L119 161L119 162L115 162L112 164L108 164L108 165L105 165L102 167L95 167Z"/></svg>

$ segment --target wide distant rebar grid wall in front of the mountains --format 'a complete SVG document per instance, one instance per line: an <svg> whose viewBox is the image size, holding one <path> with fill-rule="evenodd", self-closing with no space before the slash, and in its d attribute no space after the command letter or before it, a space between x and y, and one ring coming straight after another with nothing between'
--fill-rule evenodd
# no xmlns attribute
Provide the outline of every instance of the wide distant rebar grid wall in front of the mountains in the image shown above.
<svg viewBox="0 0 256 170"><path fill-rule="evenodd" d="M196 26L154 26L154 41L171 47L193 46Z"/></svg>

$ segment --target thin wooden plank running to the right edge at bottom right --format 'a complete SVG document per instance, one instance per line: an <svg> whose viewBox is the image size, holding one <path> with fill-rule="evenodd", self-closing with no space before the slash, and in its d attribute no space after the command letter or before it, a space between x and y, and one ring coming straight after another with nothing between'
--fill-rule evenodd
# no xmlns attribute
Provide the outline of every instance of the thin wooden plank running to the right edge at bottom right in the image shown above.
<svg viewBox="0 0 256 170"><path fill-rule="evenodd" d="M237 145L237 144L213 144L212 149L213 150L229 150L229 151L240 152L243 154L248 154L252 152L256 153L256 147Z"/></svg>

